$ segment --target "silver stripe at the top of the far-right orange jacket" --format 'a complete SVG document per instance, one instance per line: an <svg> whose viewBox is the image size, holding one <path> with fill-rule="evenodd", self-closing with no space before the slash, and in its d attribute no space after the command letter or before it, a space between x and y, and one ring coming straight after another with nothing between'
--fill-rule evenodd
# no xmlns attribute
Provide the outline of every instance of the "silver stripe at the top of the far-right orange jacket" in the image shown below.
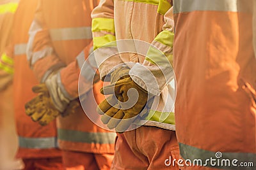
<svg viewBox="0 0 256 170"><path fill-rule="evenodd" d="M174 0L173 13L191 11L233 11L237 12L239 1L243 0ZM248 0L250 1L250 0ZM244 3L246 3L244 1Z"/></svg>

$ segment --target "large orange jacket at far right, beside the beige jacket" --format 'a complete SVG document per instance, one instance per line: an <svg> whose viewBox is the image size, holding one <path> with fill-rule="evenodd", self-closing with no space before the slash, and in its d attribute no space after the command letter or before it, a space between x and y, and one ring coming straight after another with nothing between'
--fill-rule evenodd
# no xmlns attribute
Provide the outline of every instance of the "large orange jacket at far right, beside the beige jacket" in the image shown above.
<svg viewBox="0 0 256 170"><path fill-rule="evenodd" d="M221 159L255 165L252 3L173 1L175 120L184 159L216 159L221 152Z"/></svg>

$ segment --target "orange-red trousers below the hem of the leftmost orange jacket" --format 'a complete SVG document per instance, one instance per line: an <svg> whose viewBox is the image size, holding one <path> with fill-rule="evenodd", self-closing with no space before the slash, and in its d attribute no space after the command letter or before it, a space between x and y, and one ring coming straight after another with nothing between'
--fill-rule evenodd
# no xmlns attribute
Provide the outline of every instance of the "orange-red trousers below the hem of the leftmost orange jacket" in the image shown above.
<svg viewBox="0 0 256 170"><path fill-rule="evenodd" d="M48 159L23 159L23 170L63 170L61 157Z"/></svg>

